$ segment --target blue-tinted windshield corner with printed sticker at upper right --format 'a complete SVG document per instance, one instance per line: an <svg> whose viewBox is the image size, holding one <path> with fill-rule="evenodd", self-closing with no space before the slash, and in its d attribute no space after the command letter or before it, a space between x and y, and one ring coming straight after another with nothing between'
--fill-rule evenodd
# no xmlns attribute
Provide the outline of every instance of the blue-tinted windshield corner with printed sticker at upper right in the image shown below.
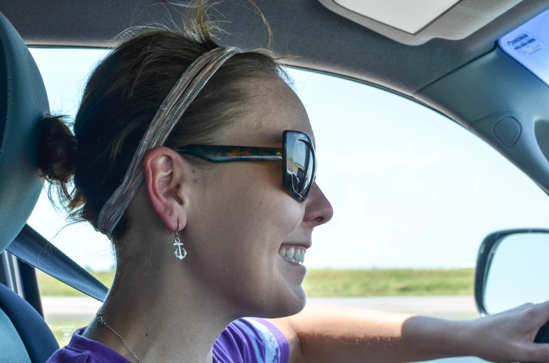
<svg viewBox="0 0 549 363"><path fill-rule="evenodd" d="M549 10L502 36L499 46L549 84Z"/></svg>

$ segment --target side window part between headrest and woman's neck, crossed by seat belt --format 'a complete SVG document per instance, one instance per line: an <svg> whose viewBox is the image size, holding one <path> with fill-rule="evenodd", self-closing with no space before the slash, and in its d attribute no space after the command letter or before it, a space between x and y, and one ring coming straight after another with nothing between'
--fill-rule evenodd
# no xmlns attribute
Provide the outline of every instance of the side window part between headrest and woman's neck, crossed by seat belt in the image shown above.
<svg viewBox="0 0 549 363"><path fill-rule="evenodd" d="M31 48L40 68L52 114L73 117L87 75L106 50ZM46 191L40 196L29 225L66 255L110 287L115 261L108 239L89 223L68 225L66 214L52 207ZM90 323L100 302L36 271L44 318L60 346L69 343L74 330Z"/></svg>

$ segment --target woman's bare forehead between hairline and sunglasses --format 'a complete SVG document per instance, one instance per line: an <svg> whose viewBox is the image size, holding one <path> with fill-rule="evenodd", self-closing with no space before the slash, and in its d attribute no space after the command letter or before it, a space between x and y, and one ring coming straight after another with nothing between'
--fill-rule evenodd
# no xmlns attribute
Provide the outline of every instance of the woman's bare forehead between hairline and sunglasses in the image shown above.
<svg viewBox="0 0 549 363"><path fill-rule="evenodd" d="M313 143L315 137L311 122L301 100L282 80L252 80L246 85L250 100L248 112L227 138L236 145L280 146L282 133L295 130L306 133Z"/></svg>

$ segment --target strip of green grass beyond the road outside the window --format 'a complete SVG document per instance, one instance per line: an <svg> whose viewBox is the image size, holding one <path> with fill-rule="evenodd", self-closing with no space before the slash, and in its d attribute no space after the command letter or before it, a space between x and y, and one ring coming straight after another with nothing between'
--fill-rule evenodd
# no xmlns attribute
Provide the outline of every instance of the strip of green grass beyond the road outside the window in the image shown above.
<svg viewBox="0 0 549 363"><path fill-rule="evenodd" d="M90 272L110 287L113 272ZM85 296L38 272L42 296ZM474 269L309 269L308 297L473 295Z"/></svg>

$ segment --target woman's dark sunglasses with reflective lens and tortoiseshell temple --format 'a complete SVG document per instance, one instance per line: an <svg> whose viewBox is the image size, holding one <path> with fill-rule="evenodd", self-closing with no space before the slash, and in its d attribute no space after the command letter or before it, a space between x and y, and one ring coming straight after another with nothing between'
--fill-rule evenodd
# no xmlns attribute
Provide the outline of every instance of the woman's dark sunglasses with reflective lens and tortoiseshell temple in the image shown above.
<svg viewBox="0 0 549 363"><path fill-rule="evenodd" d="M315 147L311 139L299 131L287 130L283 132L282 149L276 147L187 145L176 151L213 163L282 161L282 185L287 193L298 202L303 202L307 198L316 177Z"/></svg>

